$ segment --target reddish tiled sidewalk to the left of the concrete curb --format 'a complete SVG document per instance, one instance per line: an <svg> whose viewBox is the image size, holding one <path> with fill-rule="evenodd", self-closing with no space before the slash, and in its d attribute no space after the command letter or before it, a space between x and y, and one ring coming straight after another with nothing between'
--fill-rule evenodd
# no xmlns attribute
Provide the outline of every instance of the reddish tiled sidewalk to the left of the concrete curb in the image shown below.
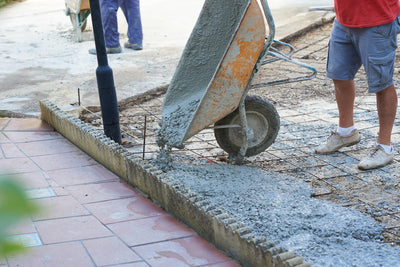
<svg viewBox="0 0 400 267"><path fill-rule="evenodd" d="M43 212L6 266L240 266L39 119L0 118L0 170Z"/></svg>

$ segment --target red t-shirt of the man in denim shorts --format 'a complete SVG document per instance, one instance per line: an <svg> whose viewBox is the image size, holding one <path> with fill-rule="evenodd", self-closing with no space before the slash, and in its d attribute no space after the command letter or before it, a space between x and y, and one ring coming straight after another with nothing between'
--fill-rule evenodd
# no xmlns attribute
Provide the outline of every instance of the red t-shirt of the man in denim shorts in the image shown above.
<svg viewBox="0 0 400 267"><path fill-rule="evenodd" d="M335 0L336 19L352 28L392 22L400 14L399 0Z"/></svg>

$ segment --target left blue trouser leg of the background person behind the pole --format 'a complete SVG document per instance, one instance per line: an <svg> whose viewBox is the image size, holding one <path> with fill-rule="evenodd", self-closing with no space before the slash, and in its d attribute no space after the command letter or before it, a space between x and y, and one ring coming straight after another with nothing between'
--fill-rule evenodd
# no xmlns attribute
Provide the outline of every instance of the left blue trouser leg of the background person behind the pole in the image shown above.
<svg viewBox="0 0 400 267"><path fill-rule="evenodd" d="M100 0L100 8L106 47L120 47L117 19L118 0Z"/></svg>

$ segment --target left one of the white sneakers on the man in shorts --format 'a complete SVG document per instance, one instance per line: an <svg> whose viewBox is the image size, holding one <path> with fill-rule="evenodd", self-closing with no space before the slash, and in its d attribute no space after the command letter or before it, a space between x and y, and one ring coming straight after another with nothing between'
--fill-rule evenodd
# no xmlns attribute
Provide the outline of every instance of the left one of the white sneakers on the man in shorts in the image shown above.
<svg viewBox="0 0 400 267"><path fill-rule="evenodd" d="M332 131L326 142L315 148L317 154L329 154L338 151L342 147L352 146L360 142L360 135L354 129L349 136L341 136L336 131Z"/></svg>

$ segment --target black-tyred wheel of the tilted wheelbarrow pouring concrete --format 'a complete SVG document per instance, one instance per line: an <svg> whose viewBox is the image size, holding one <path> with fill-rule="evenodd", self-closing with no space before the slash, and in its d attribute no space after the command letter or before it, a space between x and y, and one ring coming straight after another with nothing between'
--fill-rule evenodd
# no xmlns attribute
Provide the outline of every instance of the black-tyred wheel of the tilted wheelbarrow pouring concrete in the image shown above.
<svg viewBox="0 0 400 267"><path fill-rule="evenodd" d="M248 125L246 156L249 157L272 145L278 135L280 119L275 107L258 96L247 96L245 108ZM238 155L243 144L239 109L216 122L214 126L220 126L214 129L218 145L230 155Z"/></svg>

